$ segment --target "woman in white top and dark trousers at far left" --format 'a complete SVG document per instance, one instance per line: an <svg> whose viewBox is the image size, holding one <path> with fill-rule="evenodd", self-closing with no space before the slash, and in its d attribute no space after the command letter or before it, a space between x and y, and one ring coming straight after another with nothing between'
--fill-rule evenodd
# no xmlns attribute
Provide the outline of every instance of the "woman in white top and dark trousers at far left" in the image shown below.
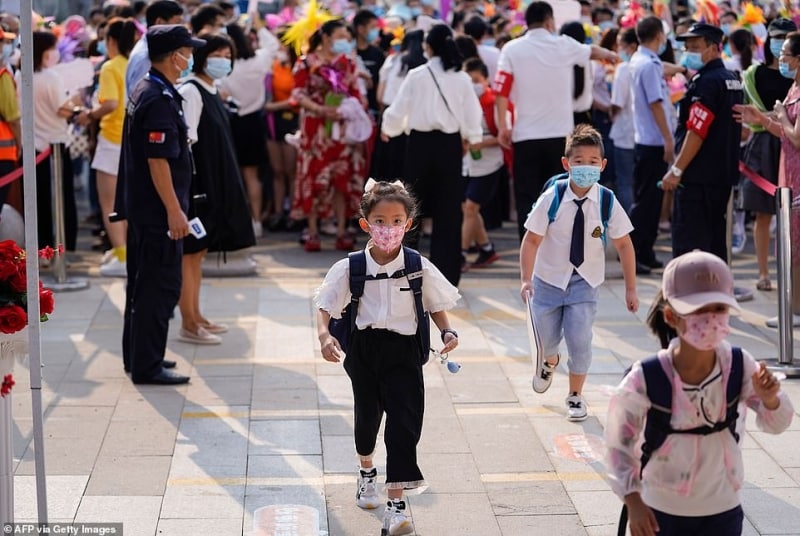
<svg viewBox="0 0 800 536"><path fill-rule="evenodd" d="M38 213L39 247L63 245L75 250L78 236L78 212L75 206L75 187L72 159L67 150L69 135L67 119L73 116L76 102L68 95L61 77L51 69L61 59L52 32L33 32L33 115L36 152L46 151L51 144L61 144L61 181L64 192L64 244L54 242L52 177L50 159L36 166L36 211Z"/></svg>

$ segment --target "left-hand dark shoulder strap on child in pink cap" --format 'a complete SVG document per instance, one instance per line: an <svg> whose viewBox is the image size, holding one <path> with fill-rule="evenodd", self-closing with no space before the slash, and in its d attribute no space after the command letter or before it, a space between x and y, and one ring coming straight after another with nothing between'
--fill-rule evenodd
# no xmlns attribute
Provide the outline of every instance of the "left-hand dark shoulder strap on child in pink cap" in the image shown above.
<svg viewBox="0 0 800 536"><path fill-rule="evenodd" d="M642 372L647 388L647 398L650 399L650 409L644 425L644 443L642 443L642 457L639 465L639 478L642 476L645 465L650 457L666 441L667 436L673 432L670 425L672 418L672 379L667 376L658 356L642 360Z"/></svg>

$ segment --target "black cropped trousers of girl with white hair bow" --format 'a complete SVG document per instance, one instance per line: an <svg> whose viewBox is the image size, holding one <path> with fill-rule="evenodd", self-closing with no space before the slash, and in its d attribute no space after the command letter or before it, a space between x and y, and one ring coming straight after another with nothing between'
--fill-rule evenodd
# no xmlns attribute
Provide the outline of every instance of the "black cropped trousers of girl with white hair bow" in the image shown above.
<svg viewBox="0 0 800 536"><path fill-rule="evenodd" d="M385 329L356 330L344 369L353 385L356 452L369 456L375 451L385 412L386 482L423 480L417 443L425 384L416 338Z"/></svg>

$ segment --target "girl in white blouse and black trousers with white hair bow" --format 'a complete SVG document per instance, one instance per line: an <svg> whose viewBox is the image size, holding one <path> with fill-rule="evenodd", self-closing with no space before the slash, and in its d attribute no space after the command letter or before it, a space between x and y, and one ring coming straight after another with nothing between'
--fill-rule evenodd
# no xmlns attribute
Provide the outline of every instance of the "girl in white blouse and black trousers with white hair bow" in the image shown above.
<svg viewBox="0 0 800 536"><path fill-rule="evenodd" d="M361 229L369 233L365 248L367 276L356 330L349 342L344 369L353 387L355 444L361 467L356 503L361 508L380 504L376 487L377 469L373 452L383 414L386 413L386 488L389 501L384 511L384 529L390 536L414 531L402 500L403 491L422 492L427 485L417 465L417 443L422 432L425 386L422 356L417 344L414 298L405 277L392 278L404 269L402 241L413 225L416 203L400 181L367 181L361 200ZM348 259L334 264L314 296L319 308L317 330L322 357L338 362L339 341L328 331L331 317L340 318L350 303ZM447 310L460 296L428 259L422 257L422 303L441 330L447 353L458 345L458 334L450 327ZM381 278L381 274L384 274ZM387 277L389 276L389 277Z"/></svg>

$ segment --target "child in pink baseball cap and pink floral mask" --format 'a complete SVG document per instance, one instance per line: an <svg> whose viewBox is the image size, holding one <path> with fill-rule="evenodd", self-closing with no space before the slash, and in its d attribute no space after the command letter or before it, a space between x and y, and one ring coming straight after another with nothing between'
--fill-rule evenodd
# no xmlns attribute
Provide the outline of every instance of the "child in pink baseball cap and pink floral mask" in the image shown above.
<svg viewBox="0 0 800 536"><path fill-rule="evenodd" d="M633 536L739 535L737 424L749 407L762 431L778 434L794 409L764 363L725 340L728 311L739 307L724 261L702 251L677 257L662 292L663 319L678 337L635 363L611 397L609 481Z"/></svg>

